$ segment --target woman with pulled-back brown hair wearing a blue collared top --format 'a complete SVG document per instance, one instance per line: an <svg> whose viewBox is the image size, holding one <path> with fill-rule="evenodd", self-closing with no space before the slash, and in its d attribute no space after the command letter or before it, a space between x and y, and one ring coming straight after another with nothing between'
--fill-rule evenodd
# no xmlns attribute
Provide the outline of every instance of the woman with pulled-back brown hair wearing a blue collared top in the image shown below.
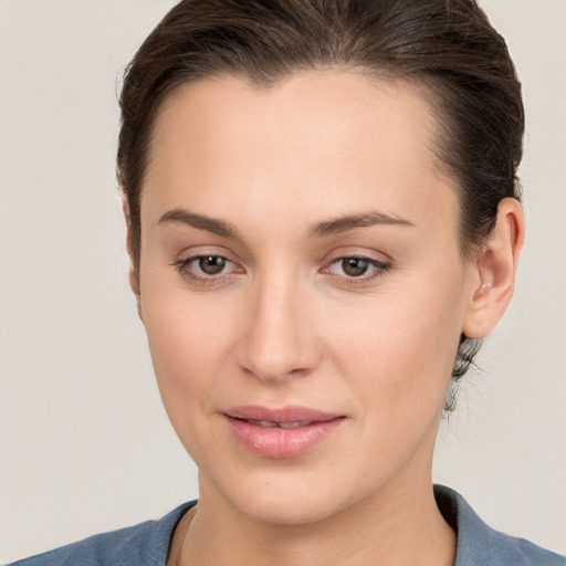
<svg viewBox="0 0 566 566"><path fill-rule="evenodd" d="M199 501L17 564L564 564L431 481L524 239L483 12L184 1L120 103L130 285Z"/></svg>

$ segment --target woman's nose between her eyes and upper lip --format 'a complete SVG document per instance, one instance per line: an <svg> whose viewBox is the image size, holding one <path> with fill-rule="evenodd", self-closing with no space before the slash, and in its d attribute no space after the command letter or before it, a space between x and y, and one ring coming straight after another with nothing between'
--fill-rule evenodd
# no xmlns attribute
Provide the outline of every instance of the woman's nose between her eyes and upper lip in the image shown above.
<svg viewBox="0 0 566 566"><path fill-rule="evenodd" d="M290 277L270 277L250 290L238 363L263 381L306 376L319 363L313 305L300 286Z"/></svg>

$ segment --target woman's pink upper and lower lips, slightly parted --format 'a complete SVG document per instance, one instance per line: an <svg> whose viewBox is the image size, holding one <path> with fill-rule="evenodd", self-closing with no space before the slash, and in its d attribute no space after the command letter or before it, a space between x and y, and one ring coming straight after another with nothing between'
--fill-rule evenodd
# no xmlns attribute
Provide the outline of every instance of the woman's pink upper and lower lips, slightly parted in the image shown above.
<svg viewBox="0 0 566 566"><path fill-rule="evenodd" d="M314 449L345 420L344 415L307 407L270 409L260 406L224 412L235 440L249 451L271 459L296 458Z"/></svg>

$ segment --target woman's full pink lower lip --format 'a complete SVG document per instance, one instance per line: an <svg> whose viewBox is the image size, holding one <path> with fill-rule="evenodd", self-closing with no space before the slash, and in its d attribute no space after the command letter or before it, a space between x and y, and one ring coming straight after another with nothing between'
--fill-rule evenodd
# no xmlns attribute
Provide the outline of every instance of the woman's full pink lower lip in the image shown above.
<svg viewBox="0 0 566 566"><path fill-rule="evenodd" d="M293 429L258 427L228 416L227 420L233 436L244 448L264 458L281 460L298 457L319 444L342 424L344 418Z"/></svg>

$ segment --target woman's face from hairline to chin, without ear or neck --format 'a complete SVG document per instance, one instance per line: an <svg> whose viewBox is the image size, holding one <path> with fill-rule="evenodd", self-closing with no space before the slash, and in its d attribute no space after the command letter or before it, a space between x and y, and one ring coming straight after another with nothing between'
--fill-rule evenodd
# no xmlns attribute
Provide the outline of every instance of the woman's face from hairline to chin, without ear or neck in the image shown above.
<svg viewBox="0 0 566 566"><path fill-rule="evenodd" d="M139 308L202 501L298 524L430 482L472 294L433 135L415 90L338 71L166 101Z"/></svg>

